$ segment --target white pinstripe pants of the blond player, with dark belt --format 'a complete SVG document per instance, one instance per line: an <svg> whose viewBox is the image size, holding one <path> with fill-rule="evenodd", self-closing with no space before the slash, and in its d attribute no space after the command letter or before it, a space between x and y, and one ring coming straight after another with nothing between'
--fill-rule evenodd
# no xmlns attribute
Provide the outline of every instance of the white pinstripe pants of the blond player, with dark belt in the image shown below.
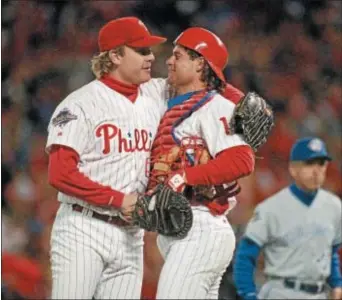
<svg viewBox="0 0 342 300"><path fill-rule="evenodd" d="M143 231L61 204L51 233L52 299L140 299Z"/></svg>

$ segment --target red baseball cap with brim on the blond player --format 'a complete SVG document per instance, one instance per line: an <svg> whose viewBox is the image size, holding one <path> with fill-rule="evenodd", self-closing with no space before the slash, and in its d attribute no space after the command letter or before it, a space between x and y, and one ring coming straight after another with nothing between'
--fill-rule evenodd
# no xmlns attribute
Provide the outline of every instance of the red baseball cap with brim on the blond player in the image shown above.
<svg viewBox="0 0 342 300"><path fill-rule="evenodd" d="M135 17L124 17L105 24L99 32L100 51L108 51L121 45L151 47L161 44L166 38L151 35L145 24Z"/></svg>

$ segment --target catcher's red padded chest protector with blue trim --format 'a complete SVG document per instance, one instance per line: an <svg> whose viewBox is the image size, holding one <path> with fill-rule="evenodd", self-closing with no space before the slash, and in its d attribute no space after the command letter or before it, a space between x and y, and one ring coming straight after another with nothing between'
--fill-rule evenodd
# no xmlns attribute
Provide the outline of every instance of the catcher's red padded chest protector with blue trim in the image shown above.
<svg viewBox="0 0 342 300"><path fill-rule="evenodd" d="M169 109L159 125L152 146L152 168L148 189L165 180L172 171L201 163L203 157L206 156L204 153L206 145L203 139L200 137L184 137L178 140L173 134L173 129L189 117L192 112L210 101L213 96L214 92L200 91L169 100ZM231 185L229 186L231 187ZM197 195L197 187L189 188L186 196L193 205L205 205L213 214L224 213L229 208L226 186L206 188L216 191L216 197L213 196L209 201L196 201L197 198L201 197L201 195Z"/></svg>

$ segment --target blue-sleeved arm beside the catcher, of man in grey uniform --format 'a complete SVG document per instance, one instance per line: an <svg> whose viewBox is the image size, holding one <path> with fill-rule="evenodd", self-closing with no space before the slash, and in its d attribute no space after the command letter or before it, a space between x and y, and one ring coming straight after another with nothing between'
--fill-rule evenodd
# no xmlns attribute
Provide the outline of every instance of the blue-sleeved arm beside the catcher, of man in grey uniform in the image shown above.
<svg viewBox="0 0 342 300"><path fill-rule="evenodd" d="M242 299L257 299L254 271L260 249L248 238L243 238L238 245L233 267L233 280Z"/></svg>

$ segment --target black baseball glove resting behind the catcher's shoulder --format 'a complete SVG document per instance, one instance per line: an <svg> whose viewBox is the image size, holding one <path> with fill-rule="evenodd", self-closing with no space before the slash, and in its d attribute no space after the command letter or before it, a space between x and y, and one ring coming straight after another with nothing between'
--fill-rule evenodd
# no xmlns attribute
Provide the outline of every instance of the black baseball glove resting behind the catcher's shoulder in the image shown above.
<svg viewBox="0 0 342 300"><path fill-rule="evenodd" d="M230 128L242 134L254 151L262 146L274 126L274 114L265 99L249 92L235 107Z"/></svg>

